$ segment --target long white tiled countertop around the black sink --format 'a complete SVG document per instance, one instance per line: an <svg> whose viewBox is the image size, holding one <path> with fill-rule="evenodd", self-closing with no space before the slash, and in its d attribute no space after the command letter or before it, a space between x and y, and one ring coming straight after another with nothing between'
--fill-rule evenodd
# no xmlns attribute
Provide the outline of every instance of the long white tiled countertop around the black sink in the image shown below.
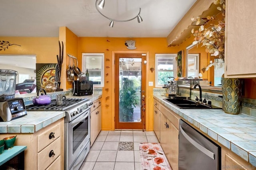
<svg viewBox="0 0 256 170"><path fill-rule="evenodd" d="M180 109L164 98L154 96L155 100L256 166L256 117L231 115L222 109Z"/></svg>

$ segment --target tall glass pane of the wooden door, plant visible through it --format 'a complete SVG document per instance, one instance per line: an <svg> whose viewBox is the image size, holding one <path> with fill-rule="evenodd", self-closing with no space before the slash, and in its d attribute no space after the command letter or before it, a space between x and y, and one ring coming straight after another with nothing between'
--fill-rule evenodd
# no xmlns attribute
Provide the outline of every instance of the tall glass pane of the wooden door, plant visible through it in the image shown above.
<svg viewBox="0 0 256 170"><path fill-rule="evenodd" d="M119 59L119 122L141 122L141 58Z"/></svg>

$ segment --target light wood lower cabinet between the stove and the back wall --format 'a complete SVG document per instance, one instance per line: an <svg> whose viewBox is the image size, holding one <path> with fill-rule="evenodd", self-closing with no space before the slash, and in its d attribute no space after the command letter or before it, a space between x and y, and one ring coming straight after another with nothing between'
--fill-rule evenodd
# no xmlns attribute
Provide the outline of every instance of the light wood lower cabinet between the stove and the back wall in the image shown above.
<svg viewBox="0 0 256 170"><path fill-rule="evenodd" d="M97 138L98 134L101 131L101 98L93 102L91 107L91 134L90 134L90 142L91 146Z"/></svg>

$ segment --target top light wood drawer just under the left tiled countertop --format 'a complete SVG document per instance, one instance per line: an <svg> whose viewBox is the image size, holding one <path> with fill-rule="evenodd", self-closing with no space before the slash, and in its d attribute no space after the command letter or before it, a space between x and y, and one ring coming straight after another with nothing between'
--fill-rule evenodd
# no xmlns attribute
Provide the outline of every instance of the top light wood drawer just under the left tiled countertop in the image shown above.
<svg viewBox="0 0 256 170"><path fill-rule="evenodd" d="M60 123L38 135L38 152L60 137ZM51 135L54 135L51 136ZM51 138L51 139L50 139Z"/></svg>

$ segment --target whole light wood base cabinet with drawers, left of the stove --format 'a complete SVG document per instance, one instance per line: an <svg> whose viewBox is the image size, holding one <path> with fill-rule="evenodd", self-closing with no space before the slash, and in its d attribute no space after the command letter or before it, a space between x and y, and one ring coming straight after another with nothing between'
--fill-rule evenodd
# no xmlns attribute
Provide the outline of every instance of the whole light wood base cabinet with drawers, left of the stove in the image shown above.
<svg viewBox="0 0 256 170"><path fill-rule="evenodd" d="M64 169L64 118L35 133L4 133L0 139L17 135L15 145L27 146L26 170Z"/></svg>

